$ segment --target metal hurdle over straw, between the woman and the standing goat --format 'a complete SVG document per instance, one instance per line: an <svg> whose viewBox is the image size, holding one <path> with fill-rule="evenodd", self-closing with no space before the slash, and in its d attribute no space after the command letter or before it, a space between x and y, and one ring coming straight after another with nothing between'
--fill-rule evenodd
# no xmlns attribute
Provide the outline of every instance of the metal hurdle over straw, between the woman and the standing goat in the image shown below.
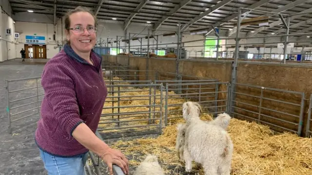
<svg viewBox="0 0 312 175"><path fill-rule="evenodd" d="M105 132L104 139L161 134L161 84L117 84L107 88L112 91L109 91L98 125L98 131Z"/></svg>

